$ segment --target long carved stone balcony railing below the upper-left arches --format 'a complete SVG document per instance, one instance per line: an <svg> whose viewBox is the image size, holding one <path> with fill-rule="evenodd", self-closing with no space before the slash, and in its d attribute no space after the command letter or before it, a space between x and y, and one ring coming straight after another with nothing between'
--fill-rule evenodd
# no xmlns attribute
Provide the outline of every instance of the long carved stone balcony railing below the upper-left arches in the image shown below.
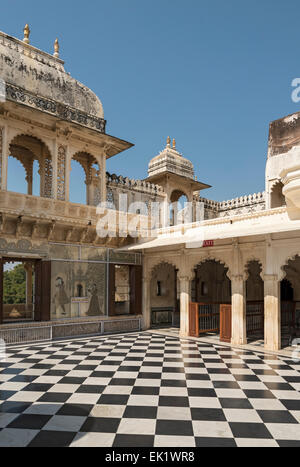
<svg viewBox="0 0 300 467"><path fill-rule="evenodd" d="M138 235L143 235L144 231L151 226L151 218L148 216L113 209L97 212L96 206L23 195L11 191L0 190L0 206L2 236L5 236L8 233L6 230L9 229L20 238L24 235L38 238L43 234L48 240L49 238L55 240L56 227L58 230L73 227L81 230L82 237L78 241L83 243L84 238L87 241L95 233L97 222L102 218L109 219L109 231L116 231L117 234L124 226L131 224L134 226L134 221L137 221ZM69 235L72 238L72 229L69 230Z"/></svg>

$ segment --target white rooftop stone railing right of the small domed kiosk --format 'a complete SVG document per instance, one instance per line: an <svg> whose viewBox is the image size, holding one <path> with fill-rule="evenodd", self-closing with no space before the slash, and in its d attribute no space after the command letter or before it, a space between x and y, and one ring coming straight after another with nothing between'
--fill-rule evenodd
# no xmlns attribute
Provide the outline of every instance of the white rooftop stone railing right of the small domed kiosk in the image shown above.
<svg viewBox="0 0 300 467"><path fill-rule="evenodd" d="M244 214L246 212L259 211L266 208L265 192L240 196L239 198L221 202L209 200L200 196L196 196L195 200L204 203L204 210L208 218L224 217L231 214Z"/></svg>

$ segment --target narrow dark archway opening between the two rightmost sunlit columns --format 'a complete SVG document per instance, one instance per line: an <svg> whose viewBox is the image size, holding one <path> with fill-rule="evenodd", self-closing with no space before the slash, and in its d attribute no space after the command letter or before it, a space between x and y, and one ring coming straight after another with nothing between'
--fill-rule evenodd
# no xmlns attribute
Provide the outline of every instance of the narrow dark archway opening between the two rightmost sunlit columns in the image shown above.
<svg viewBox="0 0 300 467"><path fill-rule="evenodd" d="M253 260L247 264L246 273L246 333L248 342L264 345L264 281L262 265Z"/></svg>

